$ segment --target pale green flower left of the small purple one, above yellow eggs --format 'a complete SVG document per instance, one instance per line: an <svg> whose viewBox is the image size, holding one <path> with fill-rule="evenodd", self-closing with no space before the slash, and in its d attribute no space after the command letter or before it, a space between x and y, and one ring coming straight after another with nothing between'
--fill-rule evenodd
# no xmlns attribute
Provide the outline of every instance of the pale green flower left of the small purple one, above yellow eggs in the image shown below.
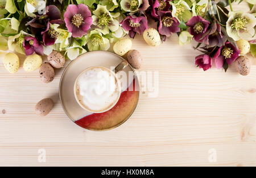
<svg viewBox="0 0 256 178"><path fill-rule="evenodd" d="M23 48L23 42L24 42L24 36L32 36L30 34L27 34L24 31L20 31L19 34L15 36L9 36L8 38L8 48L10 51L16 51L21 54L25 54L24 48Z"/></svg>

